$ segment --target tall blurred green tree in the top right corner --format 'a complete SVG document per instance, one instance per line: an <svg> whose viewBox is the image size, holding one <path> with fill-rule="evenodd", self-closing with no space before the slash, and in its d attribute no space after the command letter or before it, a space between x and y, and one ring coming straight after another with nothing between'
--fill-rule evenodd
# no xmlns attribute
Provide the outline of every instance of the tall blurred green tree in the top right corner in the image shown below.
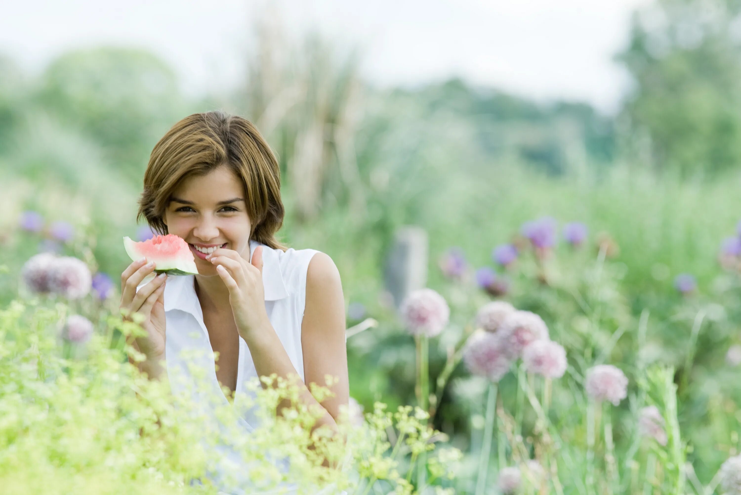
<svg viewBox="0 0 741 495"><path fill-rule="evenodd" d="M635 88L621 118L651 161L680 174L741 163L741 2L659 0L634 13L617 56Z"/></svg>

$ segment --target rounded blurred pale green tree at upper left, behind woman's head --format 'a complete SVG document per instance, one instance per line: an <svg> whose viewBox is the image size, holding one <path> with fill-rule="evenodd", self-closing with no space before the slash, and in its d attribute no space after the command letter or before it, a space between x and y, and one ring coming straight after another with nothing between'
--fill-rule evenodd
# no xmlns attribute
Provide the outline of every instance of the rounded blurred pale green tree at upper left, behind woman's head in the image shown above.
<svg viewBox="0 0 741 495"><path fill-rule="evenodd" d="M133 183L141 180L159 137L185 117L173 70L133 48L64 53L44 71L36 100L101 145L107 162Z"/></svg>

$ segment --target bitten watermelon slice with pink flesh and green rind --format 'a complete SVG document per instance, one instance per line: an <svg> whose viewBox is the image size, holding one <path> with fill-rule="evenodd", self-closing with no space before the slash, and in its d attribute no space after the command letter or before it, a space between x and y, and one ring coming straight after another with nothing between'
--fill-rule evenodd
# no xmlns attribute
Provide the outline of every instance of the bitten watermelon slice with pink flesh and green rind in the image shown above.
<svg viewBox="0 0 741 495"><path fill-rule="evenodd" d="M147 258L147 262L154 261L155 273L198 275L193 252L187 242L177 235L156 235L140 243L124 237L124 249L133 261L141 258Z"/></svg>

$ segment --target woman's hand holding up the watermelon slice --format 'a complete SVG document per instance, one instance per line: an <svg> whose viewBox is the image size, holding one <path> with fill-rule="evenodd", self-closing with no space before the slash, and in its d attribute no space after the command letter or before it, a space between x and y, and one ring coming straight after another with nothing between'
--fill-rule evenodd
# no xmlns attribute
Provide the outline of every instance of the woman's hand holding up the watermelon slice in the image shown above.
<svg viewBox="0 0 741 495"><path fill-rule="evenodd" d="M146 260L134 261L121 274L121 306L129 313L139 312L144 316L142 328L147 336L138 337L133 342L140 353L149 358L165 357L165 281L167 276L160 274L136 292L136 287L144 277L155 269L154 263L144 264ZM129 316L125 321L132 321Z"/></svg>

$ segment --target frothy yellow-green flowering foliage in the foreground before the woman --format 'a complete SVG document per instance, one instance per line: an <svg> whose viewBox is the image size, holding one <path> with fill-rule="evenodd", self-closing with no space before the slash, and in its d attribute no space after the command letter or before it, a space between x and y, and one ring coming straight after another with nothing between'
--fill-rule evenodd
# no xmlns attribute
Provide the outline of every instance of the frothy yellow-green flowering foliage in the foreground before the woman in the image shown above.
<svg viewBox="0 0 741 495"><path fill-rule="evenodd" d="M419 408L388 413L380 402L362 424L344 410L336 432L316 427L324 413L300 399L302 385L275 375L247 384L245 407L256 407L261 419L247 432L231 404L214 405L219 401L198 378L203 373L190 383L203 394L199 404L170 393L182 376L150 381L140 374L127 361L144 358L126 344L144 331L134 322L107 315L84 346L62 341L59 321L69 311L38 299L0 310L4 494L216 494L231 482L261 490L294 483L298 494L367 493L377 483L413 494L405 466L441 440L433 440L439 432ZM333 382L328 377L327 387ZM317 401L331 395L327 387L311 384ZM288 407L276 414L284 401ZM222 465L223 446L244 464L234 471ZM459 457L450 448L431 456L429 482L442 490L439 482L452 479ZM288 468L275 459L287 459ZM214 485L216 470L223 477Z"/></svg>

